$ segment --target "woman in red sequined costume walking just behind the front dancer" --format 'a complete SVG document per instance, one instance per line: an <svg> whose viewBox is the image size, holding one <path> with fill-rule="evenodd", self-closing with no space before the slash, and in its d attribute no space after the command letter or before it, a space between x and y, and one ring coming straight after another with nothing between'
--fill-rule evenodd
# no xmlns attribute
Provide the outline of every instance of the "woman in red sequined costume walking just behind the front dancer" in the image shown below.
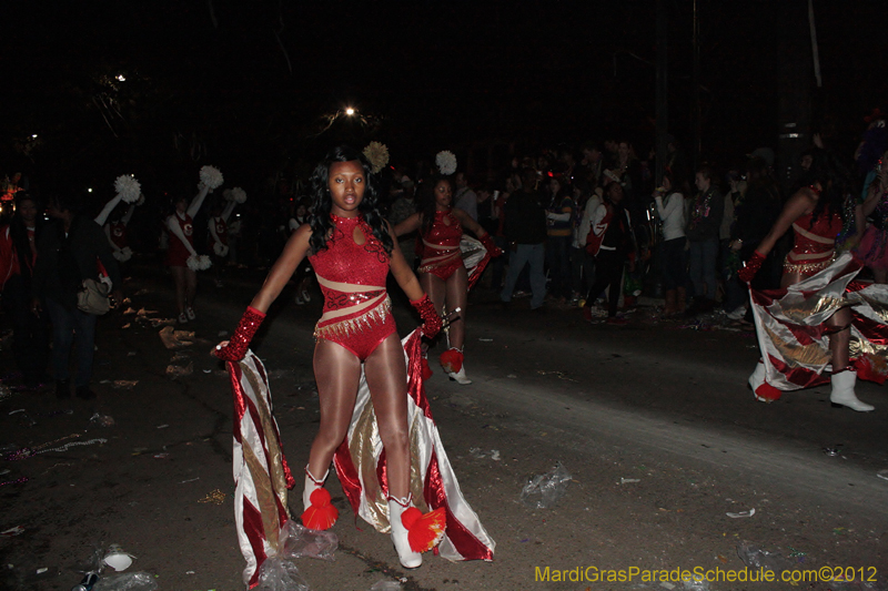
<svg viewBox="0 0 888 591"><path fill-rule="evenodd" d="M448 348L441 355L441 365L451 379L472 384L465 376L463 365L465 310L468 289L481 276L483 267L475 269L470 279L460 249L463 228L472 231L492 256L497 256L501 251L477 222L464 211L453 207L453 184L448 177L435 176L423 183L420 207L418 213L395 226L395 235L420 231L423 242L418 272L423 289L432 298L438 314L444 314L445 308L451 312L460 309L460 322L447 329Z"/></svg>

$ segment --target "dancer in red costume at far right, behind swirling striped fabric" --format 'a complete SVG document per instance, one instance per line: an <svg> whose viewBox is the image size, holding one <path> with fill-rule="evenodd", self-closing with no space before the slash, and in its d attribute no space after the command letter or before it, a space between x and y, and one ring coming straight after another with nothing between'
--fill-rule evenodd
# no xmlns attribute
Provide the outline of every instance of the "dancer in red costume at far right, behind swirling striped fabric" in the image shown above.
<svg viewBox="0 0 888 591"><path fill-rule="evenodd" d="M786 289L830 267L836 259L836 237L842 228L842 203L847 193L845 175L840 174L839 171L838 164L833 163L827 157L823 157L816 163L816 166L811 167L814 183L808 187L800 188L787 201L774 227L758 245L745 267L739 271L738 276L741 281L749 283L753 279L765 257L790 227L794 232L795 243L784 263L780 287ZM753 296L754 306L761 306L761 304L757 304L755 293ZM819 296L815 295L813 297ZM808 304L809 306L805 309L809 309L811 315L820 312L818 308L823 309L825 307L823 302L820 305L817 302L808 302ZM847 406L858 411L872 410L874 407L860 401L854 391L857 371L851 367L849 351L851 308L849 305L836 304L835 297L833 297L831 303L826 305L836 306L835 312L818 328L821 336L828 336L828 360L831 366L830 383L833 386L830 401L834 405ZM757 328L759 332L765 330L761 322L757 322ZM770 333L773 332L773 329L768 329L769 338L771 338ZM796 335L796 333L790 334ZM803 334L803 330L799 330L798 334ZM795 360L791 359L795 354L794 348L800 355L807 353L808 357L810 357L811 351L803 353L804 346L789 346L787 345L787 337L783 338L784 343L781 343L780 348L784 349L784 355L790 357L790 363L783 369L778 369L778 371L785 376L791 376L795 365ZM796 339L798 339L799 344L803 344L803 342L810 340L810 337L809 335L803 335L800 338L796 337ZM763 350L763 355L767 354L767 351ZM791 377L788 379L794 381ZM806 385L814 385L809 376L806 376L806 379L809 380ZM796 378L795 381L798 384L803 380ZM749 387L758 400L769 403L779 398L780 389L775 388L769 383L764 359L760 359L756 370L749 377Z"/></svg>

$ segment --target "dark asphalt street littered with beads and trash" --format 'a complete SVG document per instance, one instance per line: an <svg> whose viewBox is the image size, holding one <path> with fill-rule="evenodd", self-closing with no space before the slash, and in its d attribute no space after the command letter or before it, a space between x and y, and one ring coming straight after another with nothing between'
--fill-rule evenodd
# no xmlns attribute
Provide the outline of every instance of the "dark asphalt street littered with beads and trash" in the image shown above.
<svg viewBox="0 0 888 591"><path fill-rule="evenodd" d="M10 351L0 353L10 388L0 400L0 588L68 591L97 549L118 543L137 557L130 571L151 573L162 590L243 589L231 393L209 350L263 275L231 271L223 288L201 277L199 318L176 327L194 332L192 344L170 349L152 319L173 317L171 279L150 265L130 274L130 313L100 320L97 400L21 391ZM317 428L320 309L320 293L296 306L285 292L253 346L296 472ZM395 316L402 336L416 325L398 297ZM885 388L858 387L870 414L831 408L828 388L757 403L746 388L753 334L664 322L653 307L610 326L557 306L532 313L521 299L504 310L480 289L466 323L473 384L447 380L433 361L427 394L461 488L497 542L495 560L426 554L405 571L387 536L351 518L331 478L340 549L332 562L296 561L311 589L385 580L438 591L690 589L652 578L694 569L722 574L695 588L713 591L888 589ZM36 454L11 459L26 447ZM564 496L547 509L522 503L525 483L556 462L571 475ZM294 514L300 506L296 490ZM809 578L726 581L747 565L739 554L749 546ZM630 580L602 581L605 571ZM855 580L810 579L839 571Z"/></svg>

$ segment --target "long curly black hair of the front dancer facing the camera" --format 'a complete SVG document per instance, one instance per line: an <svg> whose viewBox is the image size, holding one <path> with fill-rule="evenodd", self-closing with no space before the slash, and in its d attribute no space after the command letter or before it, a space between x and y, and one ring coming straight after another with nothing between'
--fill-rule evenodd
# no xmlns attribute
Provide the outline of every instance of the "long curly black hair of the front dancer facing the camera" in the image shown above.
<svg viewBox="0 0 888 591"><path fill-rule="evenodd" d="M364 169L364 197L357 206L357 211L364 216L364 221L373 231L373 235L379 240L385 252L391 255L394 243L389 233L385 218L380 213L376 204L379 203L379 194L376 192L376 182L371 173L371 165L367 159L361 152L349 147L347 145L340 145L327 152L324 160L314 169L311 177L311 195L312 195L312 215L310 220L312 236L309 243L312 246L312 252L317 253L326 248L327 240L333 230L333 222L330 218L330 212L333 206L333 201L330 198L330 166L334 162L353 162L357 161Z"/></svg>

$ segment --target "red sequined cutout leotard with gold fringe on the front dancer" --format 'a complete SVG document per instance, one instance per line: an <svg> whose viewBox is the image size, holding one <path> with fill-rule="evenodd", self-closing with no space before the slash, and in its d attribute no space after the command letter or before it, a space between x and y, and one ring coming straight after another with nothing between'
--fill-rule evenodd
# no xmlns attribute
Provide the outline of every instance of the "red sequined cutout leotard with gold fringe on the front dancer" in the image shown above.
<svg viewBox="0 0 888 591"><path fill-rule="evenodd" d="M385 291L390 257L363 216L330 218L333 234L326 248L309 257L324 294L314 337L342 345L363 361L396 332ZM354 241L357 228L364 244Z"/></svg>

